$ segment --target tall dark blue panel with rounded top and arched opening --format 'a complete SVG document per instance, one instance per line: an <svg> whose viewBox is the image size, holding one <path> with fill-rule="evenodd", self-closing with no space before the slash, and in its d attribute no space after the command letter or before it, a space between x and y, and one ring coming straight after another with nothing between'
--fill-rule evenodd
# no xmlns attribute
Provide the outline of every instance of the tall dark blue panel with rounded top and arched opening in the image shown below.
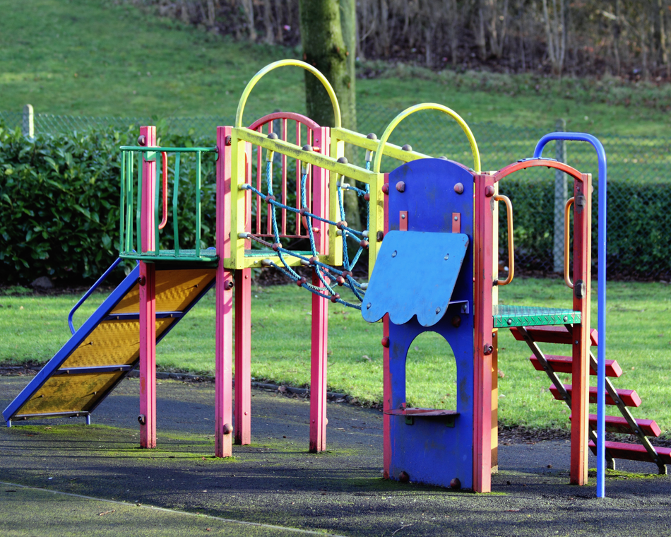
<svg viewBox="0 0 671 537"><path fill-rule="evenodd" d="M404 182L403 191L396 189L399 181ZM461 183L461 188L455 189L455 185ZM435 356L434 360L456 360L456 408L446 410L457 411L454 418L454 426L446 425L446 420L432 417L415 416L412 425L405 422L403 415L391 415L389 417L391 462L388 468L389 475L398 479L400 473L406 472L410 480L415 483L428 483L449 487L453 478L461 481L465 489L473 488L473 175L461 165L439 159L415 160L398 167L389 175L389 227L390 232L384 237L381 251L386 251L385 242L393 247L396 235L424 235L431 240L415 240L416 247L410 250L415 256L415 262L403 278L397 280L397 285L403 286L405 290L395 290L388 295L405 293L410 295L417 288L427 284L430 286L434 278L442 278L437 275L446 263L443 256L435 259L435 254L429 254L425 250L431 249L429 243L450 246L459 245L459 251L465 254L460 261L461 270L455 267L450 269L451 276L456 282L448 283L444 289L438 290L441 300L466 301L467 311L464 312L460 305L449 305L446 313L441 319L431 326L430 331L435 331L443 336L451 346L454 357ZM461 194L458 194L461 191ZM408 231L398 232L401 221L401 211L407 211L404 223L408 225ZM453 214L458 213L461 220L461 233L452 233ZM441 239L433 237L452 237L446 239L449 242L441 242ZM393 250L392 250L393 252ZM382 255L382 253L381 253ZM398 256L398 254L397 254ZM450 252L450 257L452 253ZM372 280L369 284L364 299L364 311L367 302L375 298L370 295L371 287L375 287L374 279L378 277L377 272L382 267L382 279L386 261L379 264L378 257ZM424 265L431 264L432 268ZM424 281L429 274L431 282ZM455 274L456 273L456 274ZM452 288L453 286L453 288ZM374 289L373 289L374 290ZM427 296L428 291L422 290L422 297L411 298L416 309L432 312L429 308L429 300L433 296ZM447 299L444 297L447 296ZM426 302L422 305L422 301ZM438 306L436 306L438 307ZM373 306L371 306L371 309ZM417 318L412 318L405 324L396 324L391 315L389 323L389 371L388 381L391 384L389 397L389 408L396 410L403 408L406 402L406 360L408 349L412 341L420 334L429 331L422 326ZM434 313L435 315L435 313ZM364 313L365 318L365 313ZM455 386L446 386L452 391Z"/></svg>

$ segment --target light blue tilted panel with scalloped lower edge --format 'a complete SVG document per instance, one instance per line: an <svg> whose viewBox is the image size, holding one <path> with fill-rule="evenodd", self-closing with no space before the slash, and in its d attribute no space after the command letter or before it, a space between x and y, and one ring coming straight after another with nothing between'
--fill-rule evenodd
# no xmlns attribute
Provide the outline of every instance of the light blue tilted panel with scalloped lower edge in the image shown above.
<svg viewBox="0 0 671 537"><path fill-rule="evenodd" d="M375 261L361 312L368 322L384 314L395 324L417 315L422 326L443 318L461 271L468 235L390 231Z"/></svg>

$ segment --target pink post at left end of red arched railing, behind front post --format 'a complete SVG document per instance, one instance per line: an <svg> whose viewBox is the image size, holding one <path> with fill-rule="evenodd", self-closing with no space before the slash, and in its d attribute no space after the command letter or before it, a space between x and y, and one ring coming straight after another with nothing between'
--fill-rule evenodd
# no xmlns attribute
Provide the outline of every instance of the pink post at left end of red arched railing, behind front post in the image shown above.
<svg viewBox="0 0 671 537"><path fill-rule="evenodd" d="M246 181L251 183L251 145L246 146ZM251 192L245 192L244 230L251 232ZM251 248L251 241L245 241ZM251 443L251 268L235 271L235 443Z"/></svg>

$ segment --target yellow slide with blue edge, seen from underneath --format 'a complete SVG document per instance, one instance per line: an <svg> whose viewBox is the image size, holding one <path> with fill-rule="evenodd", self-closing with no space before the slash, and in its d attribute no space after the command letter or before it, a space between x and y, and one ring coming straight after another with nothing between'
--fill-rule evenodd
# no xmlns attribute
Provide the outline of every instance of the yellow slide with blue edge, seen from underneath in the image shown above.
<svg viewBox="0 0 671 537"><path fill-rule="evenodd" d="M156 267L156 341L215 283L215 268ZM3 411L11 420L88 416L139 362L139 266Z"/></svg>

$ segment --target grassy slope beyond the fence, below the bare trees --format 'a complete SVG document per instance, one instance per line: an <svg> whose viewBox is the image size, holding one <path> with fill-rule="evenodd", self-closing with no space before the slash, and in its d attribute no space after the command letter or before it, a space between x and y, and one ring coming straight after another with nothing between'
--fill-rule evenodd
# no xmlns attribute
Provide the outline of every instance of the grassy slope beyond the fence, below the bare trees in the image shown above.
<svg viewBox="0 0 671 537"><path fill-rule="evenodd" d="M30 102L52 114L230 116L256 71L296 54L235 43L102 0L0 0L0 9L0 110L19 111ZM671 135L660 112L648 108L567 100L558 92L511 97L433 78L401 69L393 78L359 80L357 99L393 110L441 102L472 122L552 129L564 117L578 131ZM302 74L282 69L259 83L249 110L300 112L303 100Z"/></svg>

